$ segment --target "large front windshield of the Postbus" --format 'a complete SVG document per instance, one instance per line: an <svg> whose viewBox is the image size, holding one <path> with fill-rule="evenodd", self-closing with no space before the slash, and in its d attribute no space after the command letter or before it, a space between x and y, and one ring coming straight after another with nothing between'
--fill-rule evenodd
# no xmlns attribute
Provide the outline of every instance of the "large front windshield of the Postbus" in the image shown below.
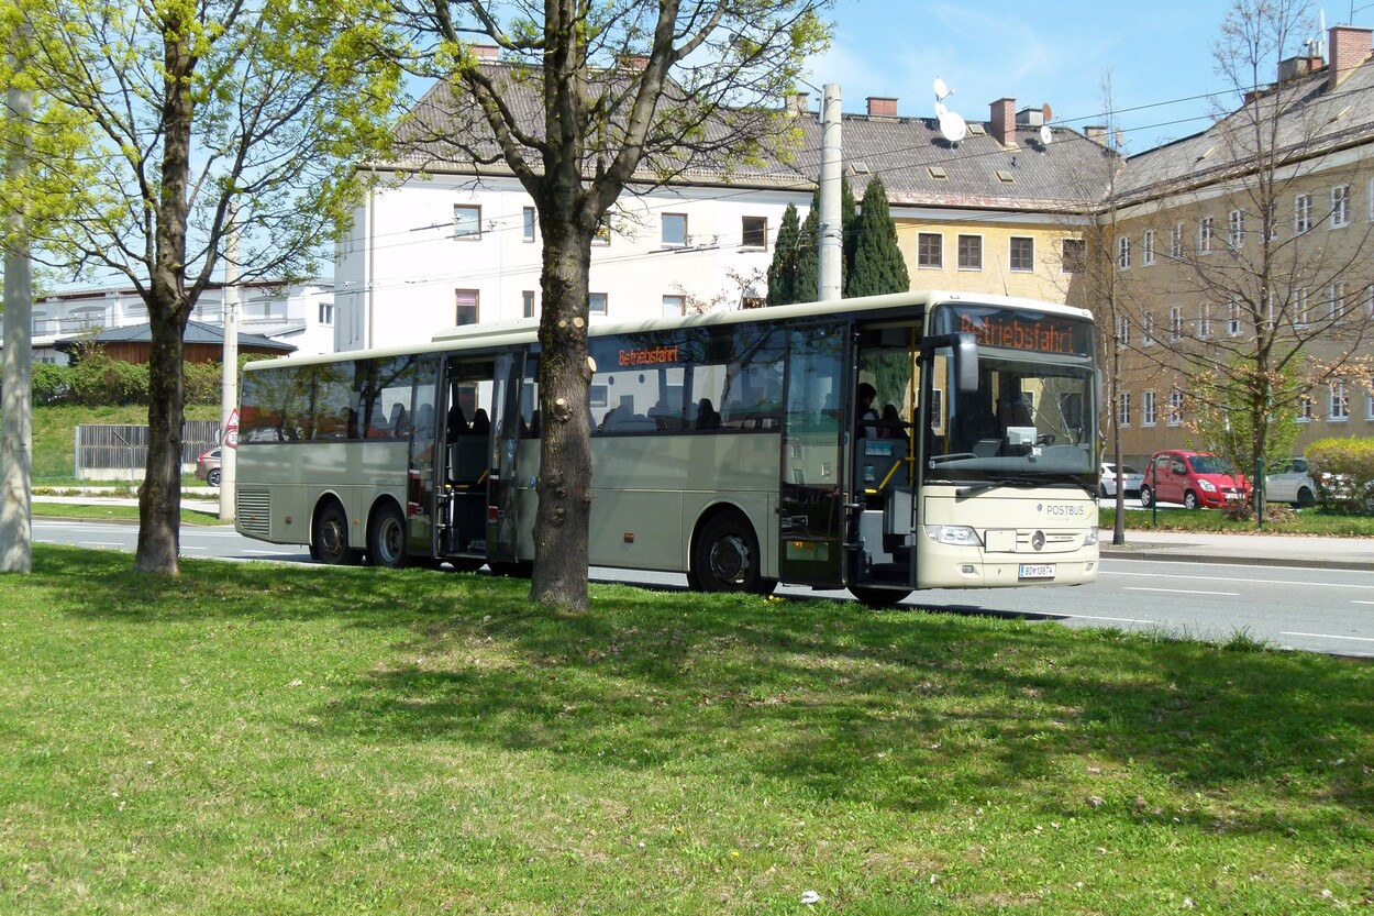
<svg viewBox="0 0 1374 916"><path fill-rule="evenodd" d="M978 389L960 392L954 359L937 355L926 480L1096 486L1091 366L978 349Z"/></svg>

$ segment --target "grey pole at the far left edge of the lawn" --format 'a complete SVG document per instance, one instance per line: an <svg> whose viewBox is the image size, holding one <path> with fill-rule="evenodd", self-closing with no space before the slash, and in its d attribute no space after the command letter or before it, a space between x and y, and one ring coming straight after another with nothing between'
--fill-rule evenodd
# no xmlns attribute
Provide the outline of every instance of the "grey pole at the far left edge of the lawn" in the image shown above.
<svg viewBox="0 0 1374 916"><path fill-rule="evenodd" d="M21 41L27 39L21 26ZM15 55L10 52L11 63ZM29 168L33 92L11 85L12 121L8 177ZM33 264L23 212L7 217L4 234L4 422L0 424L0 572L33 569Z"/></svg>

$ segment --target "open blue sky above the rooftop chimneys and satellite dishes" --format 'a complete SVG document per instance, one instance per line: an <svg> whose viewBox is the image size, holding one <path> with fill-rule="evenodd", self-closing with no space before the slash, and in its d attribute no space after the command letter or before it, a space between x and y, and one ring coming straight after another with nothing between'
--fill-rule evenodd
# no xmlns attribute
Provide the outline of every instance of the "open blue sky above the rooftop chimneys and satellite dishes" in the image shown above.
<svg viewBox="0 0 1374 916"><path fill-rule="evenodd" d="M1353 25L1374 25L1367 4L1353 4ZM945 106L970 121L988 120L989 103L1007 96L1017 110L1048 103L1057 124L1081 131L1106 122L1103 76L1110 74L1125 151L1140 153L1202 131L1217 105L1238 103L1216 74L1213 54L1230 7L1230 0L837 0L834 45L809 81L838 83L848 113L864 111L867 96L877 95L896 96L899 114L933 117L938 76L954 89ZM1351 7L1349 0L1325 7L1326 22L1349 22ZM1209 94L1215 100L1197 98Z"/></svg>

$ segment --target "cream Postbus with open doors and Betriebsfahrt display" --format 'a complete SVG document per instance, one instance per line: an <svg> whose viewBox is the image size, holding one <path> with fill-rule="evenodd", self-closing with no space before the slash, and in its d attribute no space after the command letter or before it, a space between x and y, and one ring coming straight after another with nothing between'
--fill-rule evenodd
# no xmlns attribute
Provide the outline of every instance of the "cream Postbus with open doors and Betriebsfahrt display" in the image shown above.
<svg viewBox="0 0 1374 916"><path fill-rule="evenodd" d="M536 331L247 364L238 531L330 564L528 574ZM594 325L589 563L874 607L1091 582L1094 341L1084 309L940 292Z"/></svg>

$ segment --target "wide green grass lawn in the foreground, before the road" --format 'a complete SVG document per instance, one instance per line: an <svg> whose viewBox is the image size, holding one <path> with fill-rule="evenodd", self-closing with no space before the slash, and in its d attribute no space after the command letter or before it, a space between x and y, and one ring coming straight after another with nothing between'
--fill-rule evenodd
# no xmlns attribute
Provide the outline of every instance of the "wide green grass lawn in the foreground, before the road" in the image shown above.
<svg viewBox="0 0 1374 916"><path fill-rule="evenodd" d="M0 910L1374 905L1369 664L526 590L37 546L0 576Z"/></svg>

